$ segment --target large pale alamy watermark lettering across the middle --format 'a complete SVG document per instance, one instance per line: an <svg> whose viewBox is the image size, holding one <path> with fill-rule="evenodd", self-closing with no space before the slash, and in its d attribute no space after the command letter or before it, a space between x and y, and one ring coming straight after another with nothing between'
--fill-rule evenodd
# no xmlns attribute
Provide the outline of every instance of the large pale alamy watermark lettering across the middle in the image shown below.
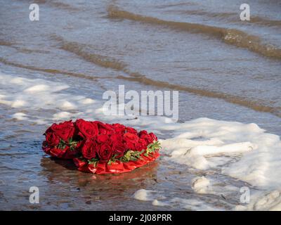
<svg viewBox="0 0 281 225"><path fill-rule="evenodd" d="M105 91L103 105L105 115L165 115L178 121L178 91L138 91L119 85L118 93ZM157 102L157 104L156 104Z"/></svg>

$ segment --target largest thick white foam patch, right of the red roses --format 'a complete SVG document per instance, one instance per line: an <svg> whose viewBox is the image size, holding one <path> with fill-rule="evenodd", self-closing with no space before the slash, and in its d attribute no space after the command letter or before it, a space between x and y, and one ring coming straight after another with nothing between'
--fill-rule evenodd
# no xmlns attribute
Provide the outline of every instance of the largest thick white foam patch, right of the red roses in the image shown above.
<svg viewBox="0 0 281 225"><path fill-rule="evenodd" d="M280 137L267 134L256 124L200 118L175 124L173 129L176 130L176 137L162 140L162 147L174 162L197 169L222 166L223 174L255 186L281 185L281 179L278 179L281 171L277 169L281 165ZM183 139L183 136L187 138ZM228 165L231 157L221 158L215 163L207 158L209 155L242 157L238 162Z"/></svg>

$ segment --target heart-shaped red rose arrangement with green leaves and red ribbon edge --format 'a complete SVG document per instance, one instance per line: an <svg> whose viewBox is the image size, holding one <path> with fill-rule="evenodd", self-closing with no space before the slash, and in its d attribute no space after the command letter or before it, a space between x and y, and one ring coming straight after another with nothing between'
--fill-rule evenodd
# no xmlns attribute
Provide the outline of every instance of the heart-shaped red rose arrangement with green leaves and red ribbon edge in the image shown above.
<svg viewBox="0 0 281 225"><path fill-rule="evenodd" d="M122 124L100 121L66 121L52 124L42 149L56 158L72 159L82 172L119 174L159 157L157 136Z"/></svg>

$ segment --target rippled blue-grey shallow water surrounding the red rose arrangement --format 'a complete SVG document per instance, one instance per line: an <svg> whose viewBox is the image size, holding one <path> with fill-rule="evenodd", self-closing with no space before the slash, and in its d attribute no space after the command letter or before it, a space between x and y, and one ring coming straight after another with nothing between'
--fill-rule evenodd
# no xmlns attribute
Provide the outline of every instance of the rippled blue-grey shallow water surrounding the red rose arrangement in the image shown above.
<svg viewBox="0 0 281 225"><path fill-rule="evenodd" d="M1 210L231 210L239 205L237 191L192 190L197 176L221 185L251 186L219 168L194 170L163 157L129 174L84 174L71 162L44 155L41 134L56 121L97 118L74 96L100 101L105 90L125 84L126 91L179 90L179 122L209 117L256 123L280 136L280 2L249 1L251 22L240 21L239 1L38 4L40 20L31 22L30 1L0 0ZM30 80L12 84L6 76ZM25 91L32 81L48 84L48 91ZM68 104L72 100L73 108ZM126 119L115 118L131 122ZM136 120L134 126L147 129L148 124ZM158 135L169 139L171 133L163 129ZM39 205L29 203L30 186L39 187ZM140 188L198 203L140 202L133 198Z"/></svg>

